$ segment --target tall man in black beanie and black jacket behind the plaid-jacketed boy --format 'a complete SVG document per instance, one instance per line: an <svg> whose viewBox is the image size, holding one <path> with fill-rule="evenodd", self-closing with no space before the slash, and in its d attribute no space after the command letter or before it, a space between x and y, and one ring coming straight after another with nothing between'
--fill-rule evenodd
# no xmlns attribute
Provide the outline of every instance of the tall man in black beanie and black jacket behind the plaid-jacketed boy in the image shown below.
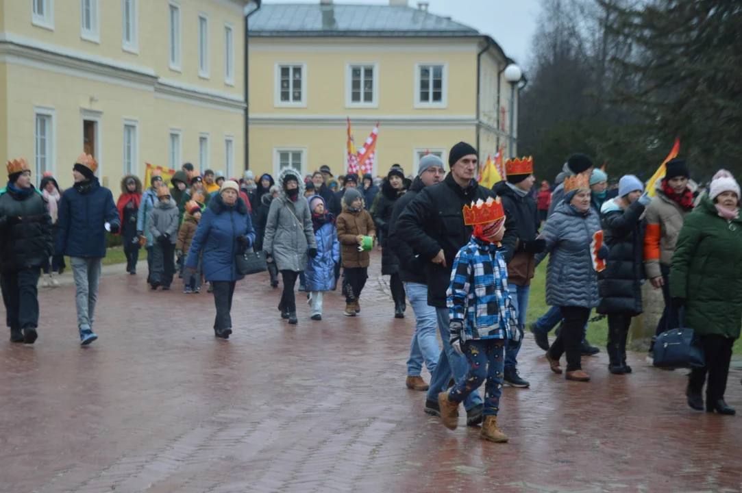
<svg viewBox="0 0 742 493"><path fill-rule="evenodd" d="M425 401L425 412L440 415L438 394L447 388L451 372L458 382L467 372L467 360L450 344L450 318L446 306L446 291L450 284L453 259L469 241L473 228L464 225L462 210L479 199L496 197L488 188L480 187L474 179L479 165L477 151L465 142L459 142L448 153L450 173L443 182L424 188L407 205L396 223L401 241L418 252L427 272L427 302L436 307L438 328L443 340L443 351L430 380ZM505 219L506 233L502 239L502 256L510 262L516 250L517 231L512 217ZM467 425L482 423L482 397L472 392L464 407Z"/></svg>

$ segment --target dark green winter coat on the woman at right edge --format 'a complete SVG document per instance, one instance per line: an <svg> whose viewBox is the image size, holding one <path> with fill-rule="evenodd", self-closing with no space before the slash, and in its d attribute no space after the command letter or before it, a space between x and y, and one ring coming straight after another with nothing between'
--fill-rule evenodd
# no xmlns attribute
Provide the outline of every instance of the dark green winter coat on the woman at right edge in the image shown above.
<svg viewBox="0 0 742 493"><path fill-rule="evenodd" d="M742 219L720 217L708 194L686 216L677 238L670 296L686 300L683 325L697 334L740 337Z"/></svg>

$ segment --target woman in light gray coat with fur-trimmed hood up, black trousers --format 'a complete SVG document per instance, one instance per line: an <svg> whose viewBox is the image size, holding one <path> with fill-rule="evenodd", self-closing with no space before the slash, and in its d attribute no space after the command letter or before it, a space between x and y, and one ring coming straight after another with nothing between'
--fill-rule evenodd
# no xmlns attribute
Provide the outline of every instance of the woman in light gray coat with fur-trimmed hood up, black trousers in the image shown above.
<svg viewBox="0 0 742 493"><path fill-rule="evenodd" d="M268 211L263 251L269 262L275 261L283 279L283 295L278 305L281 318L296 325L294 285L299 273L306 268L306 256L317 257L317 243L299 173L286 168L278 175L278 183L280 192Z"/></svg>

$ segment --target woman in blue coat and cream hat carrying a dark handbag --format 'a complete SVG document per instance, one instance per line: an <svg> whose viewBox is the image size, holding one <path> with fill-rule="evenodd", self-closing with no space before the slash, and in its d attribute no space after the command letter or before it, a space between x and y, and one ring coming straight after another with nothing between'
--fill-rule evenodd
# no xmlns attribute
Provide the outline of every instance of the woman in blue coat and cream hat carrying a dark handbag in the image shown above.
<svg viewBox="0 0 742 493"><path fill-rule="evenodd" d="M255 232L247 204L240 198L240 185L232 180L226 181L203 211L185 261L185 267L195 271L201 257L203 277L214 286L214 305L217 307L215 337L229 339L229 334L232 334L229 312L232 311L234 285L244 277L237 274L234 257L254 243Z"/></svg>

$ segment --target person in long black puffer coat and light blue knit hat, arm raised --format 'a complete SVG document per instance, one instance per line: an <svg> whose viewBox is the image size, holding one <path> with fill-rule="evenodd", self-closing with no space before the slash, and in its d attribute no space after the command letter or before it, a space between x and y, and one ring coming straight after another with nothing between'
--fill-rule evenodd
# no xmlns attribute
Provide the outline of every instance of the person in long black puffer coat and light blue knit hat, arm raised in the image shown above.
<svg viewBox="0 0 742 493"><path fill-rule="evenodd" d="M644 279L644 209L651 197L634 175L623 176L615 199L603 202L600 222L603 243L608 246L605 270L598 273L600 305L597 312L608 315L608 371L631 373L626 364L626 338L631 317L641 314Z"/></svg>

